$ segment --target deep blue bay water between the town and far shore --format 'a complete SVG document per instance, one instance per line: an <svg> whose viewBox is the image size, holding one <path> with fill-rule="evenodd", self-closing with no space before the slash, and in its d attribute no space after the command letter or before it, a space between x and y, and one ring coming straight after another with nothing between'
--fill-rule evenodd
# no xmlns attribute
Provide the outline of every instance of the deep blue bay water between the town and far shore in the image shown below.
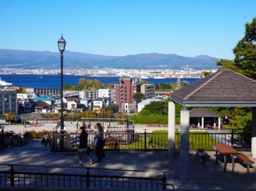
<svg viewBox="0 0 256 191"><path fill-rule="evenodd" d="M61 75L0 75L5 82L13 83L11 86L15 87L33 87L33 88L61 88ZM72 84L76 86L81 78L88 80L100 80L101 83L119 83L120 77L88 77L88 76L75 76L64 75L63 84ZM164 79L143 79L148 83L170 83L177 82L177 78L164 78ZM181 78L181 81L193 83L199 78Z"/></svg>

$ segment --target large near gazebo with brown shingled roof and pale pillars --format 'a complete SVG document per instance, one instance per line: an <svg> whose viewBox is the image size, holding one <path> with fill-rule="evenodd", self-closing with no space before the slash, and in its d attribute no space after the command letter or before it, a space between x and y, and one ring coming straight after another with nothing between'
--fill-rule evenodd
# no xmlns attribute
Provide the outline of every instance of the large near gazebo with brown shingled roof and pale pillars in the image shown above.
<svg viewBox="0 0 256 191"><path fill-rule="evenodd" d="M171 100L183 105L180 112L180 179L188 178L190 112L187 107L252 107L251 155L256 158L256 81L223 68L171 93ZM175 153L175 104L168 105L168 153Z"/></svg>

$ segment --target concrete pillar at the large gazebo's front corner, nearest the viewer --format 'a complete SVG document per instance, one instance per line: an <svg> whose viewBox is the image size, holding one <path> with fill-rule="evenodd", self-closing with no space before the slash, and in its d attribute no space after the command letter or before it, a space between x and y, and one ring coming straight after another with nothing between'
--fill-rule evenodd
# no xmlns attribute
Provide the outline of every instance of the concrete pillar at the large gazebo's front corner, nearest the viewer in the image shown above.
<svg viewBox="0 0 256 191"><path fill-rule="evenodd" d="M188 180L188 157L190 151L190 111L180 111L180 181Z"/></svg>

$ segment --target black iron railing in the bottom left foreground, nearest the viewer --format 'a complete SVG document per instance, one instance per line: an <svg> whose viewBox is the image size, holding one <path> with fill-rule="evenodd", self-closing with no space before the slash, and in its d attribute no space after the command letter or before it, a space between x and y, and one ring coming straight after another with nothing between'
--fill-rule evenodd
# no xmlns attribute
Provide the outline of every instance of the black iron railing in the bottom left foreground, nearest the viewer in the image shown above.
<svg viewBox="0 0 256 191"><path fill-rule="evenodd" d="M13 165L10 170L0 171L0 188L26 187L26 188L91 188L91 189L174 189L172 184L166 183L166 173L168 171L149 171L149 170L118 170L119 172L133 173L162 173L159 178L156 177L137 177L137 176L109 176L93 174L90 170L117 171L116 169L102 168L76 168L62 166L36 166L36 165ZM16 168L14 170L14 166ZM21 166L23 168L21 168ZM30 168L58 168L60 173L33 172ZM84 173L65 173L66 169L82 170ZM46 170L45 170L46 171ZM47 170L50 171L50 170ZM101 173L108 174L108 173Z"/></svg>

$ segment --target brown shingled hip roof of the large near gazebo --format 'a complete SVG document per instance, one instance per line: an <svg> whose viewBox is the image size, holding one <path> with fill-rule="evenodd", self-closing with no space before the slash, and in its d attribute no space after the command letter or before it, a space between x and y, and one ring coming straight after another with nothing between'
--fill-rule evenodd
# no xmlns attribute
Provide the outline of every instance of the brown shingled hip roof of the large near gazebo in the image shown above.
<svg viewBox="0 0 256 191"><path fill-rule="evenodd" d="M223 68L172 92L171 99L185 107L256 107L256 81Z"/></svg>

